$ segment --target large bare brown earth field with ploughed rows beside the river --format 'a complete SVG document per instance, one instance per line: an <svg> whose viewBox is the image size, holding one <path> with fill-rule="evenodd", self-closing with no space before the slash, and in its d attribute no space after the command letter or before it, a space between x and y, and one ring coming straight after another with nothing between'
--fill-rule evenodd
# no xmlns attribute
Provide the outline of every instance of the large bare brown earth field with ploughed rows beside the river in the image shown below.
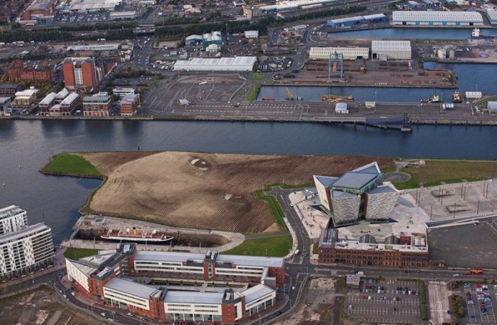
<svg viewBox="0 0 497 325"><path fill-rule="evenodd" d="M307 183L313 174L340 175L375 160L179 152L83 155L109 177L90 203L94 211L141 216L170 226L244 233L273 225L266 203L253 197L263 184ZM376 160L382 168L393 165L386 158Z"/></svg>

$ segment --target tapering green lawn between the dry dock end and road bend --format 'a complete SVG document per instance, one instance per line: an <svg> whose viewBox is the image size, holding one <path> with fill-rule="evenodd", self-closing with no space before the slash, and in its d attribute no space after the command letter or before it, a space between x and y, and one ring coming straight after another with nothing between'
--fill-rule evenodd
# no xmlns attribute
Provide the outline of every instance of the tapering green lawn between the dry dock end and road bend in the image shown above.
<svg viewBox="0 0 497 325"><path fill-rule="evenodd" d="M292 245L293 239L290 235L247 239L223 254L283 257L290 252Z"/></svg>

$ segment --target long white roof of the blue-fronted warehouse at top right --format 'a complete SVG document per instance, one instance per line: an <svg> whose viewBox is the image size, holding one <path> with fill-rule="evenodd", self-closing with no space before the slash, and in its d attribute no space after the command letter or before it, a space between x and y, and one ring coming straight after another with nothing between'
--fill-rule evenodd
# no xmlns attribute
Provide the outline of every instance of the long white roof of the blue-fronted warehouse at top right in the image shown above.
<svg viewBox="0 0 497 325"><path fill-rule="evenodd" d="M393 11L393 21L460 21L483 23L476 11Z"/></svg>

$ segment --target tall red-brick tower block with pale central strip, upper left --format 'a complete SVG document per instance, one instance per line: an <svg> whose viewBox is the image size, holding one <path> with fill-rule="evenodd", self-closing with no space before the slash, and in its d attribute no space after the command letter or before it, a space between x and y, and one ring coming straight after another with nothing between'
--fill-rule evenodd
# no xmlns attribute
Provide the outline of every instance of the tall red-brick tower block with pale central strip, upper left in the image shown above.
<svg viewBox="0 0 497 325"><path fill-rule="evenodd" d="M66 57L62 62L64 83L67 89L97 89L102 72L93 57Z"/></svg>

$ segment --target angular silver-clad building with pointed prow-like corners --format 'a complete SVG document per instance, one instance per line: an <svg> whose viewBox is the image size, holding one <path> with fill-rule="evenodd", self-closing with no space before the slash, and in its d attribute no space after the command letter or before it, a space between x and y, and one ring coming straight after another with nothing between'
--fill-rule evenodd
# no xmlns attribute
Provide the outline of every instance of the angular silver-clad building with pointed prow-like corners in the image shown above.
<svg viewBox="0 0 497 325"><path fill-rule="evenodd" d="M399 193L388 183L376 162L346 172L341 177L314 176L324 211L334 226L356 224L360 219L387 221Z"/></svg>

